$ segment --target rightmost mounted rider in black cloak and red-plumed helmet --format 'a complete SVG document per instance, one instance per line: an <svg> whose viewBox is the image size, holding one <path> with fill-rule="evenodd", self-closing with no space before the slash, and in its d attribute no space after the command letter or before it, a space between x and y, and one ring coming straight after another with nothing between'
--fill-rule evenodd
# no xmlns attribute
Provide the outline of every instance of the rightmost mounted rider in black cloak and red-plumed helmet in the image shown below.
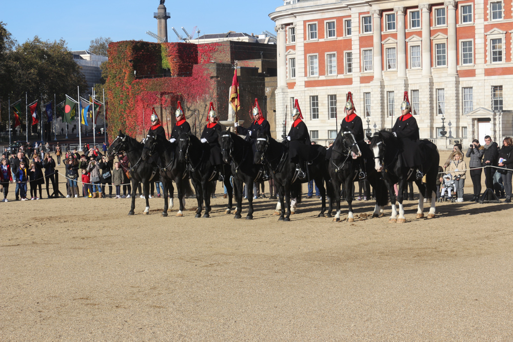
<svg viewBox="0 0 513 342"><path fill-rule="evenodd" d="M411 107L408 101L408 92L404 92L401 103L401 116L393 125L392 133L401 140L403 150L401 153L403 165L417 170L417 179L422 179L422 163L425 160L424 152L420 147L419 126L417 120L410 113Z"/></svg>

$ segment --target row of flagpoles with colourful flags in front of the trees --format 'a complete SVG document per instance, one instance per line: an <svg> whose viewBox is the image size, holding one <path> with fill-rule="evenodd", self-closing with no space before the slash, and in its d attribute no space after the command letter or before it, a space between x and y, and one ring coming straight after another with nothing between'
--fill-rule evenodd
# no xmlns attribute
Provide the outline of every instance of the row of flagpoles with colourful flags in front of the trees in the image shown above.
<svg viewBox="0 0 513 342"><path fill-rule="evenodd" d="M78 121L78 129L77 129L77 137L78 137L78 144L79 144L79 150L82 150L82 127L81 125L89 126L87 123L87 115L90 111L92 111L92 120L93 120L93 144L96 145L96 131L95 131L95 123L96 123L96 116L97 113L100 111L100 108L104 106L103 110L103 118L104 118L104 139L107 141L107 132L106 132L106 110L105 110L105 90L103 90L103 102L96 99L96 94L94 91L94 88L92 88L92 96L90 96L89 100L85 99L80 96L80 87L77 87L77 100L72 98L69 95L66 95L66 99L57 104L56 102L56 96L53 95L53 109L52 109L52 101L44 104L45 112L47 115L47 122L53 123L53 132L54 132L54 140L57 140L57 133L56 133L56 122L53 120L53 113L56 113L57 110L61 112L62 122L66 122L66 139L68 138L68 124L72 123L72 120L74 117L77 118ZM8 99L8 107L9 107L9 145L12 144L12 138L11 138L11 108L14 113L14 129L18 126L21 126L21 122L19 121L19 116L21 115L21 102L22 100L19 99L16 102L14 102L11 105L11 98ZM39 100L35 100L34 102L28 103L28 95L25 93L25 122L26 122L26 139L29 140L29 121L28 121L28 112L30 111L30 114L32 115L32 126L37 125L39 123L39 120L37 119L37 103ZM43 104L43 98L41 98L41 103ZM79 115L76 115L76 107L75 105L78 105L78 112ZM95 115L96 113L96 115ZM44 139L44 132L43 132L43 110L41 111L41 140ZM87 129L87 128L86 128Z"/></svg>

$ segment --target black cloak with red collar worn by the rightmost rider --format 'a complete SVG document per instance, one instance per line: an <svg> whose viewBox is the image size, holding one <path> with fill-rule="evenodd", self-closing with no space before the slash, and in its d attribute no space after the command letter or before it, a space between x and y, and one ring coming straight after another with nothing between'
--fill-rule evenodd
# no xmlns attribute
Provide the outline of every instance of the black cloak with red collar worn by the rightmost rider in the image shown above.
<svg viewBox="0 0 513 342"><path fill-rule="evenodd" d="M405 116L408 118L404 119ZM408 114L401 115L393 125L392 132L396 132L402 143L403 165L410 168L421 166L426 158L420 146L419 126L415 117Z"/></svg>

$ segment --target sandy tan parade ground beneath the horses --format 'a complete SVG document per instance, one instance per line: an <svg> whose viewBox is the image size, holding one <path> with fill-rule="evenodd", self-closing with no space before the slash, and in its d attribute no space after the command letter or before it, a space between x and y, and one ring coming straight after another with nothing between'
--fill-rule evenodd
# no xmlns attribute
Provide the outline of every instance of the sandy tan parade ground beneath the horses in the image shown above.
<svg viewBox="0 0 513 342"><path fill-rule="evenodd" d="M43 192L0 203L0 341L513 340L510 204L416 219L406 201L390 224L390 206L367 218L361 201L354 223L333 223L313 198L284 223L269 199L233 219L221 186L210 218Z"/></svg>

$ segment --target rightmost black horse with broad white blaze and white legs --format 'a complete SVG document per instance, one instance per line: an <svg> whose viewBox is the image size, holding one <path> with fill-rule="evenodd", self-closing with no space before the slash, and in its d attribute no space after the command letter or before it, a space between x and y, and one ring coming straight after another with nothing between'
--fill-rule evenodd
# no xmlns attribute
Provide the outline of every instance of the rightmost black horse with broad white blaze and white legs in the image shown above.
<svg viewBox="0 0 513 342"><path fill-rule="evenodd" d="M371 139L370 149L374 157L375 169L381 172L390 193L390 202L392 203L392 215L389 222L405 223L403 208L403 190L407 186L409 180L415 180L417 187L419 187L419 205L417 207L417 218L424 217L424 194L431 195L431 208L427 218L435 217L435 204L437 193L437 175L438 165L440 163L440 154L438 153L437 146L429 140L421 140L423 145L426 159L422 164L422 169L426 177L426 185L422 184L422 180L416 178L413 169L403 166L401 159L401 141L396 138L392 133L381 130L373 135L368 134L367 137ZM398 183L399 195L397 200L399 202L399 217L397 218L396 209L396 194L393 190L393 185ZM426 191L427 190L427 191Z"/></svg>

